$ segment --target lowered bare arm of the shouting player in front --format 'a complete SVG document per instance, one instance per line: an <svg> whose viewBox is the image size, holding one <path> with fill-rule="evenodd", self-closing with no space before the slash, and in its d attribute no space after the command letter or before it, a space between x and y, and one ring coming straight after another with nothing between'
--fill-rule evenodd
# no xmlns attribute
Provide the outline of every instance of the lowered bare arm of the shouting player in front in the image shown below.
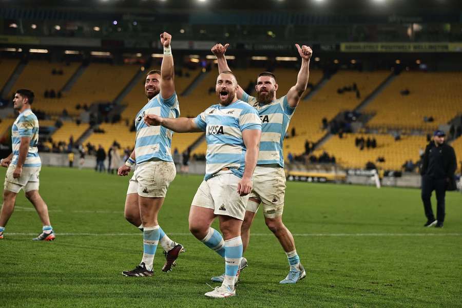
<svg viewBox="0 0 462 308"><path fill-rule="evenodd" d="M238 192L241 196L246 196L252 191L252 175L257 165L260 137L260 129L246 129L242 131L242 139L247 151L245 152L244 175L238 184Z"/></svg>

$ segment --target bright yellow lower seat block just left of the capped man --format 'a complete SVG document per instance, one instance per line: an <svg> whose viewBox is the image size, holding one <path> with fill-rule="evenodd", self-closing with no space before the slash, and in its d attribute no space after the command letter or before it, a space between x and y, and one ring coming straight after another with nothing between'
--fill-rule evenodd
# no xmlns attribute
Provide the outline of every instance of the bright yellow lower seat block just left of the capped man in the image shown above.
<svg viewBox="0 0 462 308"><path fill-rule="evenodd" d="M355 145L355 139L375 138L376 148L364 148L361 150ZM401 136L401 140L395 141L389 134L343 134L343 138L337 135L329 139L313 154L319 156L323 151L335 156L336 162L346 168L365 168L368 162L374 163L378 168L401 170L402 165L412 160L416 163L419 160L419 149L425 149L427 139L425 136ZM378 162L379 157L384 158L384 162Z"/></svg>

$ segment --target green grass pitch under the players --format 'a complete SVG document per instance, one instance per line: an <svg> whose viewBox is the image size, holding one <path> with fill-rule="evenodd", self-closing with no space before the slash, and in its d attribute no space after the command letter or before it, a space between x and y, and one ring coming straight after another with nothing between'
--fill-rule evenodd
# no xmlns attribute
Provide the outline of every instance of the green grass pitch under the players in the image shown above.
<svg viewBox="0 0 462 308"><path fill-rule="evenodd" d="M161 271L159 246L155 276L127 278L121 272L142 256L141 233L123 216L128 178L43 168L40 191L57 237L31 240L41 223L21 192L0 240L0 306L462 306L460 193L448 192L445 226L436 229L422 227L418 189L300 182L287 185L284 221L307 278L279 284L287 259L259 212L237 296L207 299L205 283L223 272L224 262L188 232L201 180L177 176L161 210L160 225L186 248L174 271Z"/></svg>

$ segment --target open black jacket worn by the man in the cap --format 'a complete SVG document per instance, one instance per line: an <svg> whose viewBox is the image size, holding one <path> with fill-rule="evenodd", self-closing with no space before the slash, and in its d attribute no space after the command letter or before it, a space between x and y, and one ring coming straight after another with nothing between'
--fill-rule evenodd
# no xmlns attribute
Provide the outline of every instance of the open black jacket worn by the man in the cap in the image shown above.
<svg viewBox="0 0 462 308"><path fill-rule="evenodd" d="M456 189L454 172L457 169L457 160L454 149L446 143L436 147L435 142L431 141L427 145L424 152L424 158L422 159L422 165L420 166L420 174L422 176L427 174L430 150L436 148L441 151L442 171L444 172L446 179L449 179L448 190L454 190Z"/></svg>

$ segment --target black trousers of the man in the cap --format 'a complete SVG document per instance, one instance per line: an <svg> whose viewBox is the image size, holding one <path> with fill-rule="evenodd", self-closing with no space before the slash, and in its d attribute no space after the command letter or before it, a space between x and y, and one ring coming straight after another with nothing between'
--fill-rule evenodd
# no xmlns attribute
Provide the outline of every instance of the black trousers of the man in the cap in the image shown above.
<svg viewBox="0 0 462 308"><path fill-rule="evenodd" d="M436 192L436 220L438 222L445 221L445 195L446 195L446 179L434 179L429 176L422 176L422 201L424 202L425 216L428 220L435 220L433 215L432 191Z"/></svg>

